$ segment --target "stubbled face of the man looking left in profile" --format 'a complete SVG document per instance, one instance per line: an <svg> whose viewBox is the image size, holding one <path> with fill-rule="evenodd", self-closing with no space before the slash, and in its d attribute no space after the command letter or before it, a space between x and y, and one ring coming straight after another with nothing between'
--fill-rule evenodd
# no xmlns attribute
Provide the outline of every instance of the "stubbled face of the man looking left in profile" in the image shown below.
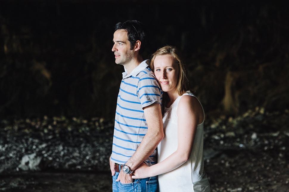
<svg viewBox="0 0 289 192"><path fill-rule="evenodd" d="M128 41L128 33L119 29L114 32L114 46L111 51L114 51L115 63L125 65L128 64L134 57L134 50L130 49Z"/></svg>

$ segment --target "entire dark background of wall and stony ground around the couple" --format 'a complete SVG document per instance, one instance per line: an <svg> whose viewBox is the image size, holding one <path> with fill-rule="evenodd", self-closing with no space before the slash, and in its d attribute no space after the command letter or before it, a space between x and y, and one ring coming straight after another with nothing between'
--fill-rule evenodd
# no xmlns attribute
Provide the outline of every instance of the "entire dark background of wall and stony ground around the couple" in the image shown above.
<svg viewBox="0 0 289 192"><path fill-rule="evenodd" d="M111 191L119 21L181 50L212 191L289 191L288 1L0 1L0 190Z"/></svg>

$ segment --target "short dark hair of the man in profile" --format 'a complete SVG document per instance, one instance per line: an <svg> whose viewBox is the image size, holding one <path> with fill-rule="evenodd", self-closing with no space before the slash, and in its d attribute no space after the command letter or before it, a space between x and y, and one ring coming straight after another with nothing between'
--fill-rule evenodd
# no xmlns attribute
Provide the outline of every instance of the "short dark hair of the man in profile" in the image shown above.
<svg viewBox="0 0 289 192"><path fill-rule="evenodd" d="M116 23L114 27L114 31L119 29L124 29L128 33L128 41L130 42L130 49L136 44L137 40L140 40L141 48L139 49L139 54L142 54L145 49L146 44L146 32L144 26L141 22L133 20L133 21L125 21L124 23Z"/></svg>

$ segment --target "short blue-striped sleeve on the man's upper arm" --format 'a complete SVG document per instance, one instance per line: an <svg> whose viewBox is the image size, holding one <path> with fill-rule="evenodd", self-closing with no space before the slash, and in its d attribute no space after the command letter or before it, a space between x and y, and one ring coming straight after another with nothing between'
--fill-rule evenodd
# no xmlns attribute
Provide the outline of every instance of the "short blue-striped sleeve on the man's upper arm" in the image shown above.
<svg viewBox="0 0 289 192"><path fill-rule="evenodd" d="M161 105L162 91L153 74L147 73L140 77L137 88L137 95L142 104L142 108L153 103Z"/></svg>

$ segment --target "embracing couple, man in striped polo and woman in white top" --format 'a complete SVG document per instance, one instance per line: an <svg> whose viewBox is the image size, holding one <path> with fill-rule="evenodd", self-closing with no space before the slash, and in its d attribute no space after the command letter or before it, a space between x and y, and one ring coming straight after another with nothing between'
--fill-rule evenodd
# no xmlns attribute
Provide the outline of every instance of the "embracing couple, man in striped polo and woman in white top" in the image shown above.
<svg viewBox="0 0 289 192"><path fill-rule="evenodd" d="M113 191L208 192L203 107L176 48L159 48L144 61L145 38L138 21L115 26L112 51L125 72L110 157Z"/></svg>

